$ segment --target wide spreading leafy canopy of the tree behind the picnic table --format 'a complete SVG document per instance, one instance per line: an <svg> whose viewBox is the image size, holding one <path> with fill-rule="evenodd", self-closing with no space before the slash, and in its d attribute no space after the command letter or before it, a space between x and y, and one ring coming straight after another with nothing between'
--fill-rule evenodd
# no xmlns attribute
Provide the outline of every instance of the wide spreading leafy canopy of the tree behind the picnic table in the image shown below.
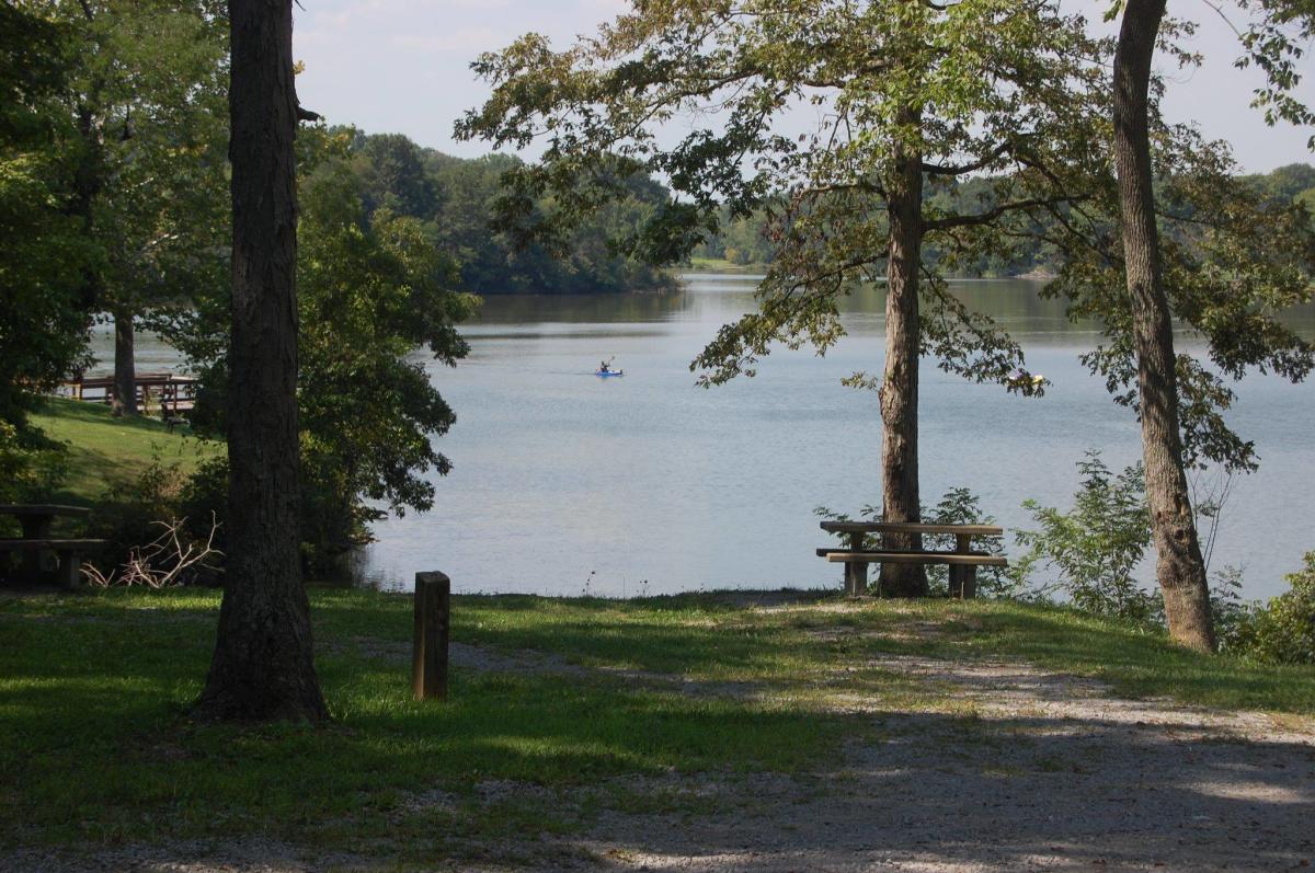
<svg viewBox="0 0 1315 873"><path fill-rule="evenodd" d="M560 51L527 34L481 57L473 67L493 93L458 135L544 143L539 164L508 176L510 222L577 225L618 195L618 162L665 175L680 196L634 231L636 251L688 255L763 210L772 266L759 312L693 363L714 384L752 375L777 342L825 351L839 341L840 298L888 267L909 162L928 176L990 176L989 201L959 212L928 201L918 216L949 271L1007 247L1005 216L1031 221L1084 196L1057 187L1056 170L1101 162L1102 51L1085 21L1044 1L661 0ZM797 130L801 105L815 129ZM660 131L677 117L692 124L672 145ZM544 192L551 212L539 214ZM1015 376L1018 344L934 276L920 304L919 348L944 369L1039 392Z"/></svg>

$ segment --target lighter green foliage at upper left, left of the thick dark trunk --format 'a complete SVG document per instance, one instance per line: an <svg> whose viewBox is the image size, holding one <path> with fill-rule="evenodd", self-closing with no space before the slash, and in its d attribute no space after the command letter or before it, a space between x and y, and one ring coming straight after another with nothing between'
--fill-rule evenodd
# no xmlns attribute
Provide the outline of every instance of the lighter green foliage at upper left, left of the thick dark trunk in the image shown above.
<svg viewBox="0 0 1315 873"><path fill-rule="evenodd" d="M63 113L71 212L99 259L85 291L117 318L227 281L227 21L218 0L58 0L74 38Z"/></svg>

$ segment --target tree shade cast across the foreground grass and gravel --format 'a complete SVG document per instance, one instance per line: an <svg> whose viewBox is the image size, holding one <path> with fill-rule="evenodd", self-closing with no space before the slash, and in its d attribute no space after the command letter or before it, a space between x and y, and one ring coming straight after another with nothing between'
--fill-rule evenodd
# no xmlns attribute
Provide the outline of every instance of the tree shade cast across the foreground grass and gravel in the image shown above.
<svg viewBox="0 0 1315 873"><path fill-rule="evenodd" d="M33 605L0 613L0 844L91 840L110 865L107 845L155 844L164 865L212 851L180 840L268 839L312 856L355 852L348 866L363 869L452 857L554 866L560 851L596 865L693 869L1236 869L1311 853L1307 742L1237 742L1174 713L1151 724L909 713L882 697L898 678L884 668L844 678L855 706L819 711L792 702L777 669L790 659L924 657L927 646L981 653L964 640L984 632L1016 634L1015 648L1041 660L1220 681L1208 659L1149 651L1134 636L1102 643L1091 638L1101 628L1063 614L995 621L985 610L980 630L965 623L927 643L867 634L893 621L880 614L801 636L739 617L665 623L608 607L589 621L571 603L551 605L558 621L542 626L504 625L492 619L535 605L480 601L466 611L487 626L458 630L483 644L671 673L763 671L788 694L686 694L600 671L456 669L448 702L417 703L405 663L342 635L405 647L406 601L384 603L317 596L317 635L338 644L320 657L335 714L323 728L187 718L213 646L213 626L191 619L213 618L213 602L167 613L187 621L132 614L130 598L78 605L67 621L18 614L42 610ZM1145 667L1152 655L1169 660ZM961 680L939 693L976 706Z"/></svg>

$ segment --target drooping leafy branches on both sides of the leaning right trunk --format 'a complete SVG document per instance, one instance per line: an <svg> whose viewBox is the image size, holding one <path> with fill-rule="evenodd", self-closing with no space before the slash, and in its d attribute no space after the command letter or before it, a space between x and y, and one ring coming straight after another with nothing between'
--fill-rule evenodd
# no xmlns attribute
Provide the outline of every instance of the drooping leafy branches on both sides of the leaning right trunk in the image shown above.
<svg viewBox="0 0 1315 873"><path fill-rule="evenodd" d="M1236 400L1231 381L1251 369L1301 381L1315 364L1311 343L1282 321L1285 310L1311 300L1315 226L1301 205L1274 201L1236 176L1227 143L1166 125L1155 135L1165 292L1173 316L1197 331L1208 356L1177 356L1184 460L1251 471L1258 463L1255 444L1224 421ZM1111 179L1070 217L1065 233L1076 237L1044 293L1066 298L1070 317L1101 322L1105 338L1084 363L1118 404L1137 412L1116 214Z"/></svg>

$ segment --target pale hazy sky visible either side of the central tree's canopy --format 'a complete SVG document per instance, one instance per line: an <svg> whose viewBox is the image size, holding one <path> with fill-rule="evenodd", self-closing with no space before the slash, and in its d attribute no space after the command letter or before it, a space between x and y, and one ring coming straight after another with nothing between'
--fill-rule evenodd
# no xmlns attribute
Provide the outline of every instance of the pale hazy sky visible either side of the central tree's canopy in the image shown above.
<svg viewBox="0 0 1315 873"><path fill-rule="evenodd" d="M366 133L404 133L417 143L473 158L483 142L455 142L452 122L488 96L469 70L483 51L518 35L542 33L556 47L627 8L625 0L301 0L295 7L293 54L301 105L330 124ZM1099 20L1101 0L1065 0ZM1206 57L1199 70L1172 70L1165 101L1173 121L1195 121L1211 139L1227 139L1248 172L1289 163L1315 163L1306 149L1311 130L1265 126L1249 108L1260 83L1255 71L1232 67L1237 41L1205 0L1181 0L1170 11L1201 24L1191 43ZM1310 74L1315 64L1307 63ZM1166 70L1166 72L1170 72ZM1297 93L1315 104L1315 76ZM533 156L527 155L527 156Z"/></svg>

